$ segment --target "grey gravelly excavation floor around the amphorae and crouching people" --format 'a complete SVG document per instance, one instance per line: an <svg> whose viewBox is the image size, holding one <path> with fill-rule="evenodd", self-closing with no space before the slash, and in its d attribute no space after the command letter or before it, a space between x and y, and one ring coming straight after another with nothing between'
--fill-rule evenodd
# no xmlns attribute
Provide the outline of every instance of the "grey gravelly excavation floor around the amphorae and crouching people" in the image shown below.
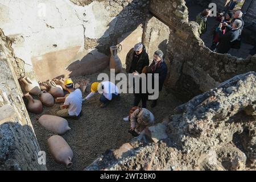
<svg viewBox="0 0 256 182"><path fill-rule="evenodd" d="M107 69L104 72L109 74ZM86 96L89 94L90 84L97 81L97 76L98 73L95 73L72 78L72 80L74 82L81 79L90 80L85 91L84 96ZM104 109L100 108L99 98L100 96L97 95L90 101L84 102L82 105L83 115L79 120L68 119L71 130L62 137L71 146L74 154L73 166L69 169L65 168L64 164L54 162L49 154L47 139L55 134L44 129L36 120L43 114L54 115L59 110L60 104L44 107L44 111L40 115L29 113L40 148L42 151L46 151L48 170L83 170L106 150L119 148L123 143L132 139L131 135L127 133L130 123L124 122L122 118L128 115L130 107L133 105L133 94L121 94L121 101L113 101ZM158 123L162 122L166 115L171 114L172 110L182 103L172 94L162 91L158 106L151 109L150 104L151 102L148 102L147 108L155 115L156 123Z"/></svg>

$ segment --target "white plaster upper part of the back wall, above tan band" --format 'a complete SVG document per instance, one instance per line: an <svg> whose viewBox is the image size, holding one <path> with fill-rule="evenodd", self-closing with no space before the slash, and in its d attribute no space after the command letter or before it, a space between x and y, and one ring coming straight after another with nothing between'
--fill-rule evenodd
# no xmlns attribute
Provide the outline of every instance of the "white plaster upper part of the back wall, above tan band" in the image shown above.
<svg viewBox="0 0 256 182"><path fill-rule="evenodd" d="M14 53L25 61L26 72L33 72L32 57L79 46L75 53L84 52L84 37L109 36L115 22L104 2L82 7L69 0L0 0L0 28L13 38Z"/></svg>

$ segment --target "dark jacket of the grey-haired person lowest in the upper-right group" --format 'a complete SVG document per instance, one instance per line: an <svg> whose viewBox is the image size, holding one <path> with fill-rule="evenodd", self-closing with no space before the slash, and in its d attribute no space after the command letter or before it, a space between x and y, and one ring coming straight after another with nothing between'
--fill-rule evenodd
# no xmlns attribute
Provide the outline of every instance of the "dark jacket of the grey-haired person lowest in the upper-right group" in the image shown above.
<svg viewBox="0 0 256 182"><path fill-rule="evenodd" d="M228 27L229 28L229 27ZM218 35L220 36L220 43L218 44L218 53L228 53L229 49L232 47L234 40L237 40L241 35L241 28L237 30L230 29L223 34L221 28L218 30Z"/></svg>

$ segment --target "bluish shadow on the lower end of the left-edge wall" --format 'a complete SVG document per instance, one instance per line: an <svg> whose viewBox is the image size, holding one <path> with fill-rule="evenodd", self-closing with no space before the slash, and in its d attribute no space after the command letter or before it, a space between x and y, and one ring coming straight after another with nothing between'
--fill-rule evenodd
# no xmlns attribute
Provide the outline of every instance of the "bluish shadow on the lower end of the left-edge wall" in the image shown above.
<svg viewBox="0 0 256 182"><path fill-rule="evenodd" d="M46 166L40 165L39 148L34 130L18 121L5 122L0 125L0 171L42 171ZM42 159L43 162L43 159Z"/></svg>

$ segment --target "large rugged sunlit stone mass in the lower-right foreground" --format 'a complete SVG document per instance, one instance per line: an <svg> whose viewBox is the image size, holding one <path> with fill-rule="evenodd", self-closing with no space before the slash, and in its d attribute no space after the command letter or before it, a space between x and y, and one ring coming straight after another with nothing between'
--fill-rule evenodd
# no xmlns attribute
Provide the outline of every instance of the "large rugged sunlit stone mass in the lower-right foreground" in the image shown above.
<svg viewBox="0 0 256 182"><path fill-rule="evenodd" d="M118 159L103 155L104 163L98 161L86 169L255 169L256 126L254 118L243 112L255 104L255 92L255 72L233 77L177 107L168 122L148 127L145 135L151 140L134 138L134 152Z"/></svg>

